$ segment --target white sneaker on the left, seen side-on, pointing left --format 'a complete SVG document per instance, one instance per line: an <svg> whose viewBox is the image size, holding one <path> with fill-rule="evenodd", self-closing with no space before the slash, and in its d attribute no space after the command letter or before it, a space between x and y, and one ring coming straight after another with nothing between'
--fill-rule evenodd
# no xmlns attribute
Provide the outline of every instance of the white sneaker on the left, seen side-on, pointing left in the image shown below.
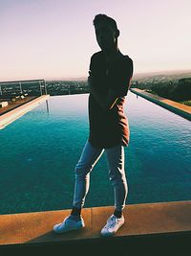
<svg viewBox="0 0 191 256"><path fill-rule="evenodd" d="M64 219L63 222L55 224L53 226L53 231L57 234L65 233L71 230L76 230L83 228L85 226L84 220L80 218L79 221L75 221L74 218L70 215Z"/></svg>

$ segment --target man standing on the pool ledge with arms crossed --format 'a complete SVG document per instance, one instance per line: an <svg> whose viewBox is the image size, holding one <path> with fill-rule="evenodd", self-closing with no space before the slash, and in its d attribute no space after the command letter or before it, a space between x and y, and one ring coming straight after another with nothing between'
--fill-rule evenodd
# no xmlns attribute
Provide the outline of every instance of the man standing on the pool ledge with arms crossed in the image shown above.
<svg viewBox="0 0 191 256"><path fill-rule="evenodd" d="M97 14L94 19L96 41L101 49L90 62L88 83L90 134L75 166L74 202L71 215L55 224L55 233L64 233L85 226L81 217L89 190L90 173L106 151L109 178L114 186L115 209L101 236L112 236L124 223L122 211L127 197L124 170L124 147L129 144L129 126L123 112L125 96L133 76L133 61L123 56L117 47L119 31L116 21Z"/></svg>

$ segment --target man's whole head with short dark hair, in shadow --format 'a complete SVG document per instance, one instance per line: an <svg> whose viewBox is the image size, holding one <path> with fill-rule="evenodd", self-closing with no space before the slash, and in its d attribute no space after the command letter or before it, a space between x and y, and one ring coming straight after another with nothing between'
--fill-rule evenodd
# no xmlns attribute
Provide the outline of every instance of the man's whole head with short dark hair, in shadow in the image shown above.
<svg viewBox="0 0 191 256"><path fill-rule="evenodd" d="M101 50L107 51L116 48L119 35L116 20L105 14L97 14L93 24L95 25L96 40Z"/></svg>

